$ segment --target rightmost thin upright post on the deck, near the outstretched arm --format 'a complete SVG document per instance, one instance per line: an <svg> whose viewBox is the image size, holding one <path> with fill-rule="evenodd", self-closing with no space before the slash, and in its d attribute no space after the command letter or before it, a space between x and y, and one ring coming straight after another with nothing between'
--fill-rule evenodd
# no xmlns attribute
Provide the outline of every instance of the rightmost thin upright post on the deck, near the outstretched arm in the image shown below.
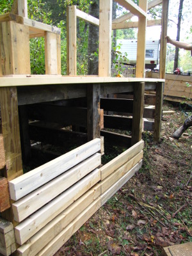
<svg viewBox="0 0 192 256"><path fill-rule="evenodd" d="M160 49L160 60L159 60L159 78L164 79L165 67L166 67L166 39L167 27L168 27L168 10L169 0L163 0L163 9L161 17L161 49Z"/></svg>

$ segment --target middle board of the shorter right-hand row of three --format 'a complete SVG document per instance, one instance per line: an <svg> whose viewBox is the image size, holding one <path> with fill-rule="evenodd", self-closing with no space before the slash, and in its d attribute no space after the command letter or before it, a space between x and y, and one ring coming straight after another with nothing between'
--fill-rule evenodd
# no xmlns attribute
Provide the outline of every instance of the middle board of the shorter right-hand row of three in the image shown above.
<svg viewBox="0 0 192 256"><path fill-rule="evenodd" d="M143 158L143 151L136 154L136 156L132 157L131 160L127 161L125 164L120 166L115 172L111 173L106 179L100 182L101 193L103 194L108 190L115 182L117 182L121 177L125 175L125 173L129 172L133 166L140 162Z"/></svg>

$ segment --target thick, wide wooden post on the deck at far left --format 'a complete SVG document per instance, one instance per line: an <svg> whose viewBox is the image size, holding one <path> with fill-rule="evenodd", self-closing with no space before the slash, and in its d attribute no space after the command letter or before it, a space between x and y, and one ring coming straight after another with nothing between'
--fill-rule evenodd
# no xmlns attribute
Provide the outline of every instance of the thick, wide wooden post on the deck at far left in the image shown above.
<svg viewBox="0 0 192 256"><path fill-rule="evenodd" d="M31 73L28 26L0 23L0 58L0 75Z"/></svg>

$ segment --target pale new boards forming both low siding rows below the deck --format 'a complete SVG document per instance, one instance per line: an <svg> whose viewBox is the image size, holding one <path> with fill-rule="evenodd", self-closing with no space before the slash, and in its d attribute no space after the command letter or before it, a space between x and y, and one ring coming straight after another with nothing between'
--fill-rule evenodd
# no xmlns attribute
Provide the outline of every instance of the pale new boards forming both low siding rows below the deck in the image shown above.
<svg viewBox="0 0 192 256"><path fill-rule="evenodd" d="M140 169L143 144L99 168L95 139L11 180L18 255L54 255Z"/></svg>

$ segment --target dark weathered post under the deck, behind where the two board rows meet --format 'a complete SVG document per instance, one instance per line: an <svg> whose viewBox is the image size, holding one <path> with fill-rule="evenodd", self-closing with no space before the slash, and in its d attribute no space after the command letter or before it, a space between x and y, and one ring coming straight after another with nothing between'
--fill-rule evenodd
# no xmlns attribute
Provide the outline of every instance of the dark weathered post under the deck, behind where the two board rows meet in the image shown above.
<svg viewBox="0 0 192 256"><path fill-rule="evenodd" d="M88 141L100 138L100 84L87 85Z"/></svg>

